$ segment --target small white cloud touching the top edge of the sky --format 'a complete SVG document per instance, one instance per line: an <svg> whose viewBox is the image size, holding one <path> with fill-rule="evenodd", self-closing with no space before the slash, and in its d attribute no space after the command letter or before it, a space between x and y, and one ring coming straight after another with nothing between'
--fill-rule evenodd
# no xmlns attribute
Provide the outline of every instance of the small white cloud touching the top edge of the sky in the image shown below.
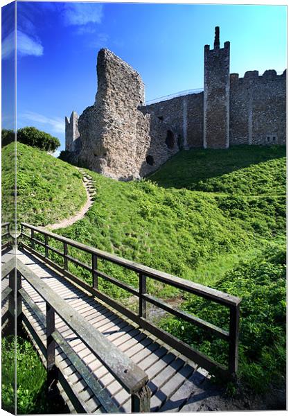
<svg viewBox="0 0 291 416"><path fill-rule="evenodd" d="M64 24L82 26L101 23L103 5L98 3L67 3L64 5Z"/></svg>

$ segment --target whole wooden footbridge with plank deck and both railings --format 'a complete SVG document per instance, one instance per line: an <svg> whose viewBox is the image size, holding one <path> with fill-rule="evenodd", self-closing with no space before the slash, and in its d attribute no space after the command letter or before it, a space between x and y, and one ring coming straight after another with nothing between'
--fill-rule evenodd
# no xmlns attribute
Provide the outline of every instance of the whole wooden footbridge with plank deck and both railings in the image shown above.
<svg viewBox="0 0 291 416"><path fill-rule="evenodd" d="M2 241L2 329L25 329L46 366L49 389L57 385L71 413L198 410L214 394L208 374L236 375L237 297L26 223L17 238L12 238L9 223L3 224ZM80 252L87 263L80 261ZM134 272L138 287L105 274L102 261ZM100 279L135 297L137 311L105 294ZM229 331L150 295L148 281L225 306ZM227 340L229 365L216 363L150 322L149 304Z"/></svg>

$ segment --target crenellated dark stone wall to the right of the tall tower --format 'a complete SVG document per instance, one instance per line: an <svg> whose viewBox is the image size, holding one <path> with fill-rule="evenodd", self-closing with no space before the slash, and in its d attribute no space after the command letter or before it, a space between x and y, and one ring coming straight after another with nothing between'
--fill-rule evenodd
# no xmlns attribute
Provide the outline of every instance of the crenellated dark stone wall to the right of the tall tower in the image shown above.
<svg viewBox="0 0 291 416"><path fill-rule="evenodd" d="M230 80L230 144L285 144L286 71L232 73Z"/></svg>

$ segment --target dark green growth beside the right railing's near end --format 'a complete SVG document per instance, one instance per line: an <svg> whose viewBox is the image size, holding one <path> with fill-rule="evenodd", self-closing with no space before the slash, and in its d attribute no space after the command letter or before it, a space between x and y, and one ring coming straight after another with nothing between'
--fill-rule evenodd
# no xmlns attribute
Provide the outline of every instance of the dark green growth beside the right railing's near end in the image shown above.
<svg viewBox="0 0 291 416"><path fill-rule="evenodd" d="M213 287L241 297L240 380L255 392L285 382L286 270L285 245L271 246L256 259L243 261ZM182 308L188 313L228 330L229 311L202 298L190 297ZM209 337L201 329L176 318L166 318L161 327L184 342L227 365L227 343Z"/></svg>

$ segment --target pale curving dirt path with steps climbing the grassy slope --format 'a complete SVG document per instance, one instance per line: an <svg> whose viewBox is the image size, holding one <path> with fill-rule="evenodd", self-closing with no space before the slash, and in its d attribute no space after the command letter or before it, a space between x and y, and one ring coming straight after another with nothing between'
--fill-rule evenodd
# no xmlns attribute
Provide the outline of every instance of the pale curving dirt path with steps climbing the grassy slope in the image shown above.
<svg viewBox="0 0 291 416"><path fill-rule="evenodd" d="M77 214L75 214L74 216L71 216L70 218L66 218L60 221L59 223L46 225L46 227L44 227L45 229L58 229L58 228L69 227L69 225L72 225L73 223L76 223L78 220L81 220L85 216L88 209L93 204L93 197L96 194L96 189L94 187L93 179L90 175L88 175L85 171L83 171L82 168L77 168L77 169L82 174L83 185L87 193L87 202L80 209L80 211L78 211Z"/></svg>

